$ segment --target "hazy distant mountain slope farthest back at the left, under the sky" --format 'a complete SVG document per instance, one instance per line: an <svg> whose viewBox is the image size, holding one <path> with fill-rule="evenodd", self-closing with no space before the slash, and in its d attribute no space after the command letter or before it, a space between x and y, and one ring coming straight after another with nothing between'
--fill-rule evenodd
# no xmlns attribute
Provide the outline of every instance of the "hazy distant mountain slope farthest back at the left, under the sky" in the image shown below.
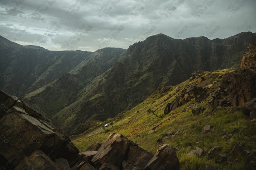
<svg viewBox="0 0 256 170"><path fill-rule="evenodd" d="M16 96L37 90L60 78L87 59L92 52L48 51L18 45L0 37L0 89Z"/></svg>

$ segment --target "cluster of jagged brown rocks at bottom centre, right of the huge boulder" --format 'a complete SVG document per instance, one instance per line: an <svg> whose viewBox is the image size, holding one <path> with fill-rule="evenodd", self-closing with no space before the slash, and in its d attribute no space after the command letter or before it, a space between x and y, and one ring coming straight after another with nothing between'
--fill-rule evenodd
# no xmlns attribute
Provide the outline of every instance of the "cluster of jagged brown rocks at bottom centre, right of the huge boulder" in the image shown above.
<svg viewBox="0 0 256 170"><path fill-rule="evenodd" d="M94 144L93 144L94 145ZM91 157L93 156L93 157ZM156 154L147 152L119 133L111 133L98 151L79 153L77 170L83 167L96 170L178 170L175 150L168 144L160 145Z"/></svg>

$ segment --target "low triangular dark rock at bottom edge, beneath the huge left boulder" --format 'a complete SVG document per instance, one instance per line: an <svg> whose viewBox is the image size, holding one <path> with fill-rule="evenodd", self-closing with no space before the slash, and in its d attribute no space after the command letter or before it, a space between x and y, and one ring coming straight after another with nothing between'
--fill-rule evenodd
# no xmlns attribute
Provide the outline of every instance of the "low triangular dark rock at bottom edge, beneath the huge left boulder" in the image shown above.
<svg viewBox="0 0 256 170"><path fill-rule="evenodd" d="M70 167L67 167L70 168ZM52 161L43 151L36 150L29 157L25 157L15 167L15 170L61 170L61 168Z"/></svg>

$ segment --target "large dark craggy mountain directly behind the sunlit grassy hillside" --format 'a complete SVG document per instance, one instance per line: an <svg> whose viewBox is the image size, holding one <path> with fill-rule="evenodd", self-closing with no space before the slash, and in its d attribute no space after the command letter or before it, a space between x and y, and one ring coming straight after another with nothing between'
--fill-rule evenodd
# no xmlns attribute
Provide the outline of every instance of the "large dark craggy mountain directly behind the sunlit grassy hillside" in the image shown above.
<svg viewBox="0 0 256 170"><path fill-rule="evenodd" d="M116 65L89 82L73 102L67 102L66 107L49 118L66 133L82 133L138 105L157 87L188 79L193 71L238 67L250 42L256 42L255 33L214 40L181 40L164 34L148 37L131 45ZM36 104L30 102L31 95L25 98Z"/></svg>

